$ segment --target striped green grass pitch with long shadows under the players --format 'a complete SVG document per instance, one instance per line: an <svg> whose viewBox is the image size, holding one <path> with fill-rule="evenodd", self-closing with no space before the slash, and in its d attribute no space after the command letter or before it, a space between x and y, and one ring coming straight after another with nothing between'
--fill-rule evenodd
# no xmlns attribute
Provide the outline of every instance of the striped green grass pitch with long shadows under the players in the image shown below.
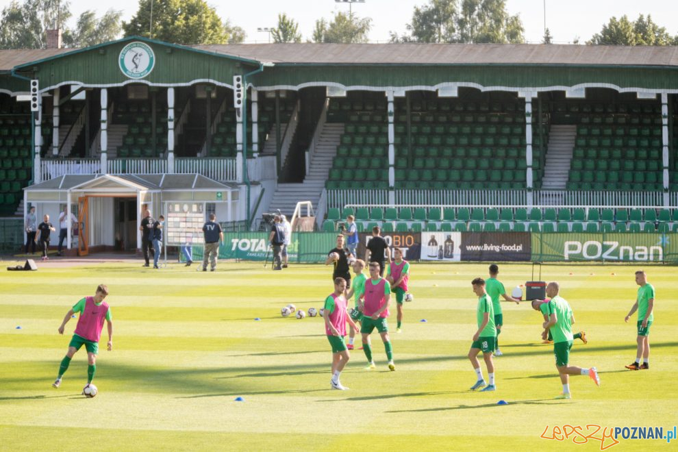
<svg viewBox="0 0 678 452"><path fill-rule="evenodd" d="M222 262L216 273L197 273L135 261L0 273L0 450L566 450L575 447L572 438L540 438L547 426L549 434L554 426L588 424L673 429L675 267L645 268L657 291L651 370L633 372L624 365L635 357L636 321L625 324L624 316L638 267L544 266L542 279L560 281L573 307L575 331L588 334L588 344L575 341L570 363L597 366L602 379L597 388L588 377L572 377L570 401L553 400L562 387L552 347L540 344L541 316L529 303L503 303L497 392L468 390L475 382L466 353L477 303L470 280L486 277L487 267L413 263L415 300L405 306L402 334L393 331L394 307L389 319L397 371L388 371L375 333L377 369L362 370L364 354L353 351L342 373L346 392L329 388L322 320L279 314L288 303L321 307L332 290L329 267L271 272L260 263ZM499 268L507 291L530 279L529 264ZM105 351L104 327L99 395L86 399L79 395L84 349L62 387L50 385L76 319L64 336L57 328L100 283L110 290L114 350ZM244 401L234 401L238 396ZM620 440L610 449L671 445ZM589 439L577 450L600 450L600 443Z"/></svg>

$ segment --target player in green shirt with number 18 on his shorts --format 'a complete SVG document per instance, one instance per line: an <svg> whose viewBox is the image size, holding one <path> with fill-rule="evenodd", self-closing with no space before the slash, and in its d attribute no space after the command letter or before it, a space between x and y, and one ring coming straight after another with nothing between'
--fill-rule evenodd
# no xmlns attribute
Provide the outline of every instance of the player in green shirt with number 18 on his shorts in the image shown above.
<svg viewBox="0 0 678 452"><path fill-rule="evenodd" d="M486 385L483 378L483 371L480 370L478 353L483 352L483 359L488 368L488 377L490 384L482 391L494 391L497 386L494 385L494 362L492 362L492 352L494 351L494 340L497 338L497 328L494 327L494 314L492 312L492 301L485 291L485 280L476 278L471 281L473 293L478 297L477 321L478 331L473 335L473 343L468 350L468 359L473 365L473 370L478 377L471 390L475 391Z"/></svg>

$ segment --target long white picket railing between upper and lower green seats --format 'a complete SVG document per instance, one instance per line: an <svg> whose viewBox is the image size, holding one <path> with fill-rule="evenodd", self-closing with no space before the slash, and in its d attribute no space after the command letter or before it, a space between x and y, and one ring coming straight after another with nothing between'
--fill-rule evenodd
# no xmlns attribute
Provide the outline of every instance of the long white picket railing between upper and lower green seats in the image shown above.
<svg viewBox="0 0 678 452"><path fill-rule="evenodd" d="M327 208L345 205L388 205L388 190L327 190ZM663 206L663 192L614 192L566 190L394 190L394 204L475 205L486 207L542 205ZM678 192L669 196L669 205L678 206ZM668 206L667 206L668 207Z"/></svg>

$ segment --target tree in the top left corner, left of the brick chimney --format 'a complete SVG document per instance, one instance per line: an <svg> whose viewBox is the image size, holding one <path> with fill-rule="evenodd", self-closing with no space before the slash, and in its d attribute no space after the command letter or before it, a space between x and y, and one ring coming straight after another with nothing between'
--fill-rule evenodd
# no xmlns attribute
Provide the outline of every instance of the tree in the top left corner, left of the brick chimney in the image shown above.
<svg viewBox="0 0 678 452"><path fill-rule="evenodd" d="M44 49L45 30L62 27L69 18L68 1L13 0L0 13L0 49Z"/></svg>

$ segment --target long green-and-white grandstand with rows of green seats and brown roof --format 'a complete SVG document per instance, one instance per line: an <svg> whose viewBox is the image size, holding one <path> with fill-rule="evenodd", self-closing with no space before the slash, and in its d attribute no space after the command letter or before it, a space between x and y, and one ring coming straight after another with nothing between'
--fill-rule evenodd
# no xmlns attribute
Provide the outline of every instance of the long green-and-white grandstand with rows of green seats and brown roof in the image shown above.
<svg viewBox="0 0 678 452"><path fill-rule="evenodd" d="M120 63L134 45L151 49L142 75ZM325 231L351 210L386 231L678 231L677 67L673 47L0 51L0 208L75 208L88 193L23 190L63 175L178 174L233 189L233 209L201 201L242 229L310 200ZM162 211L153 186L138 205ZM116 221L110 197L101 221Z"/></svg>

